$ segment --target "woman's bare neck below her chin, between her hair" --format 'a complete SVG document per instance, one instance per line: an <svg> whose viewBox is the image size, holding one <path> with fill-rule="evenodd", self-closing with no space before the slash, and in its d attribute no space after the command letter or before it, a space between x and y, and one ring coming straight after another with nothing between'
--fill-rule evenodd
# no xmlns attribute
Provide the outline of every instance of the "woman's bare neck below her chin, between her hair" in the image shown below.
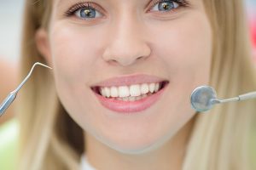
<svg viewBox="0 0 256 170"><path fill-rule="evenodd" d="M157 150L140 155L125 155L102 144L89 134L85 136L86 157L96 169L182 169L183 158L193 121Z"/></svg>

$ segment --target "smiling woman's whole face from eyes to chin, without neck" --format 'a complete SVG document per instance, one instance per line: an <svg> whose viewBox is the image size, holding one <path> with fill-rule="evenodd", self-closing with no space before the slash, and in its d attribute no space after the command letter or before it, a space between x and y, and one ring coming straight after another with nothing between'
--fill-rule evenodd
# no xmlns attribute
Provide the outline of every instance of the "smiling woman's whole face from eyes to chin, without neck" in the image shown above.
<svg viewBox="0 0 256 170"><path fill-rule="evenodd" d="M195 115L191 92L209 82L212 30L202 0L55 0L47 34L62 105L114 150L172 139Z"/></svg>

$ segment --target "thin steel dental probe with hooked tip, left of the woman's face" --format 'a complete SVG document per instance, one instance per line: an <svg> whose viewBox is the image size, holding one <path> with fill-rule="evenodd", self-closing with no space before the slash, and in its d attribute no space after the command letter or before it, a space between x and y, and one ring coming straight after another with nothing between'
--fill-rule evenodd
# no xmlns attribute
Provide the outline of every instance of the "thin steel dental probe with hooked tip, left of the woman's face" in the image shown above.
<svg viewBox="0 0 256 170"><path fill-rule="evenodd" d="M13 103L13 101L15 100L16 98L16 95L18 94L18 92L20 91L20 88L22 88L22 86L25 84L25 82L28 80L29 77L31 77L32 75L32 71L34 70L35 66L37 65L41 65L41 66L44 66L46 68L49 68L49 69L52 69L51 67L47 66L47 65L44 65L42 63L35 63L33 66L32 66L32 69L31 71L28 73L28 75L26 76L26 78L20 83L20 85L18 86L18 88L16 88L14 91L12 91L8 96L7 98L5 98L3 100L3 103L0 105L0 116L3 115L3 113L9 108L9 105L11 105Z"/></svg>

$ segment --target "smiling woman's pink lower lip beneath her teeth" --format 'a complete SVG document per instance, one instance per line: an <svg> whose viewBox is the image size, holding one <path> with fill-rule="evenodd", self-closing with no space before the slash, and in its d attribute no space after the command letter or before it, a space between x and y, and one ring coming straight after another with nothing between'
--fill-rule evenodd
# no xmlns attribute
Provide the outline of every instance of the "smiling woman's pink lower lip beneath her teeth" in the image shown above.
<svg viewBox="0 0 256 170"><path fill-rule="evenodd" d="M139 99L137 101L122 101L117 99L108 99L103 97L100 94L96 94L97 99L100 100L100 103L106 107L110 111L116 111L121 114L127 114L127 113L136 113L139 111L144 111L148 109L150 106L154 105L159 99L160 96L165 92L166 86L160 91L158 91L156 94L152 94L150 96L147 96L146 98Z"/></svg>

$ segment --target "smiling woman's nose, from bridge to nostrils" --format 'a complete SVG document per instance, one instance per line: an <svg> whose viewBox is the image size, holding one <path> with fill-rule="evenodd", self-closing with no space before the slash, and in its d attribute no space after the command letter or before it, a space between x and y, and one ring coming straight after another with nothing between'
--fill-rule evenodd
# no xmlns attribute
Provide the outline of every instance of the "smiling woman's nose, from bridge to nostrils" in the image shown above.
<svg viewBox="0 0 256 170"><path fill-rule="evenodd" d="M139 60L147 59L151 49L146 42L142 26L134 20L122 20L112 26L108 34L108 46L102 58L115 65L134 65Z"/></svg>

